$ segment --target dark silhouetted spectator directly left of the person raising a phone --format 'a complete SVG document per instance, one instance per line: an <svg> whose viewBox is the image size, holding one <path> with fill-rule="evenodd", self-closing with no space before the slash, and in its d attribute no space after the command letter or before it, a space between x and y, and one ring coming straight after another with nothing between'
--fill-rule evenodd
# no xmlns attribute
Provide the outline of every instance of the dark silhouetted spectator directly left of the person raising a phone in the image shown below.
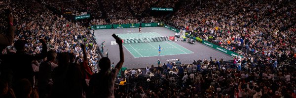
<svg viewBox="0 0 296 98"><path fill-rule="evenodd" d="M57 58L58 67L53 71L51 98L82 98L87 89L79 65L70 62L68 52L60 53Z"/></svg>

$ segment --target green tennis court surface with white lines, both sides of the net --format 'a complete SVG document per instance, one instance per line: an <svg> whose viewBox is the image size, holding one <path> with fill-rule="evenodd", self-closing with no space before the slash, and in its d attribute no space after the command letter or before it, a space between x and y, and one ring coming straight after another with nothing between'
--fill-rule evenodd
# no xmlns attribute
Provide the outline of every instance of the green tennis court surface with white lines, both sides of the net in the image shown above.
<svg viewBox="0 0 296 98"><path fill-rule="evenodd" d="M123 33L116 34L121 39L146 39L163 37L156 32L143 32L139 33ZM158 55L158 46L161 46L162 50ZM157 41L157 42L144 42L144 43L126 43L123 46L135 57L152 57L152 56L165 56L165 55L177 55L177 54L191 54L194 53L175 42L172 41Z"/></svg>

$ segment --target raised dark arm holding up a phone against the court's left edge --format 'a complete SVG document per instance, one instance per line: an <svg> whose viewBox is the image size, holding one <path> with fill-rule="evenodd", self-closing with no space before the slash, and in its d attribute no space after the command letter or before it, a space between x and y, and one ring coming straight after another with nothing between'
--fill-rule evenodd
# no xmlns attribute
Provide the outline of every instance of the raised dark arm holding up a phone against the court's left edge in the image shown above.
<svg viewBox="0 0 296 98"><path fill-rule="evenodd" d="M124 62L124 55L123 55L123 49L122 49L122 40L118 36L116 36L115 34L112 34L112 36L116 40L116 43L119 46L120 61L115 66L115 68L119 71L121 69L122 65L123 65L123 62Z"/></svg>

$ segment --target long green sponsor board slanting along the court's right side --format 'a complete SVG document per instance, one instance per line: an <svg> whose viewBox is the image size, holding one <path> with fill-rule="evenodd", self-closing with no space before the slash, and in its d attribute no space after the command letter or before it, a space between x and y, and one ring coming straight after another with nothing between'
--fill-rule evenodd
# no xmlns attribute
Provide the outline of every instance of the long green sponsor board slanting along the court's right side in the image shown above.
<svg viewBox="0 0 296 98"><path fill-rule="evenodd" d="M243 56L239 55L239 54L236 53L236 52L233 52L233 51L228 50L228 49L224 49L224 48L222 48L222 47L220 47L220 46L218 46L218 45L215 45L215 44L213 44L213 43L210 43L210 42L208 42L208 41L204 41L204 40L203 40L202 43L203 43L204 45L207 45L207 46L209 46L209 47L211 47L211 48L213 48L213 49L217 49L217 50L219 50L219 51L221 51L221 52L223 52L223 53L226 53L226 54L228 54L228 55L243 57Z"/></svg>

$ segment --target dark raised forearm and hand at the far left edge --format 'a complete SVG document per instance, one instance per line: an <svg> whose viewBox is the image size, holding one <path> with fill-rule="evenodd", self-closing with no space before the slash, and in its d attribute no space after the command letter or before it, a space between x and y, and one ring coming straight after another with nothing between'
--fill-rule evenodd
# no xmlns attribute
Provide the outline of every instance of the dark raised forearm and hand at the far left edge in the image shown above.
<svg viewBox="0 0 296 98"><path fill-rule="evenodd" d="M8 15L8 32L4 35L0 35L0 45L9 46L13 43L14 37L14 26L13 26L13 16L11 13Z"/></svg>

